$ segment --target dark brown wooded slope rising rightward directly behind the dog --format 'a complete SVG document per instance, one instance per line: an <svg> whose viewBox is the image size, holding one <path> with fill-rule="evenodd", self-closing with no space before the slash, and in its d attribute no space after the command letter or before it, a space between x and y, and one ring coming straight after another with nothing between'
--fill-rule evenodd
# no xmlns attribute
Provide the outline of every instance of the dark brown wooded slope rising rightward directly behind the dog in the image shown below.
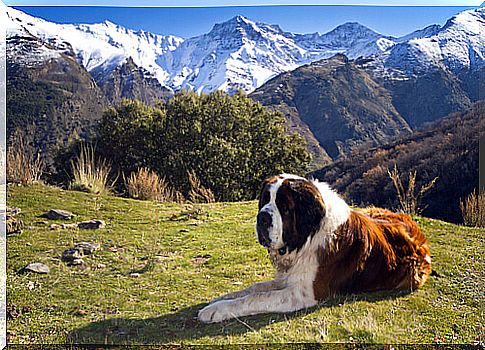
<svg viewBox="0 0 485 350"><path fill-rule="evenodd" d="M479 135L485 132L485 102L430 123L412 135L385 145L355 150L311 176L329 182L348 201L398 207L387 170L397 166L407 188L416 171L416 190L438 177L423 197L423 215L462 222L459 202L478 188Z"/></svg>

